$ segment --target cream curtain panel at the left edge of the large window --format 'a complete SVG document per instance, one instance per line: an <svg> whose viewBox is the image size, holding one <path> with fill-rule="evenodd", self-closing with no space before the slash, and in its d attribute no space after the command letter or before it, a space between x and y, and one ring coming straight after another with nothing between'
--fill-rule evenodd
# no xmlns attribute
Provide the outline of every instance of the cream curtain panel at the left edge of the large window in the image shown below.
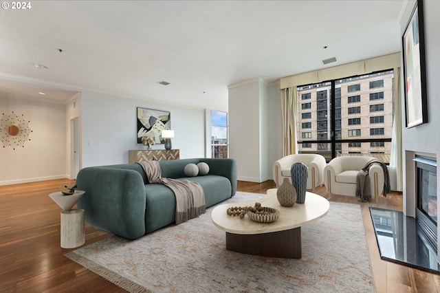
<svg viewBox="0 0 440 293"><path fill-rule="evenodd" d="M281 89L283 157L296 153L296 87Z"/></svg>

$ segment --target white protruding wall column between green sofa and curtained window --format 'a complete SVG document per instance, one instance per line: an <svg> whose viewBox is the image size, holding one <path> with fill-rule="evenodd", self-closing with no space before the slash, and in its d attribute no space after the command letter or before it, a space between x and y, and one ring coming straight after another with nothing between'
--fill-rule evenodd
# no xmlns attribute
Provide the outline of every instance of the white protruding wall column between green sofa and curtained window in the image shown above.
<svg viewBox="0 0 440 293"><path fill-rule="evenodd" d="M281 158L283 134L279 85L256 78L229 88L230 158L239 180L272 180L272 164Z"/></svg>

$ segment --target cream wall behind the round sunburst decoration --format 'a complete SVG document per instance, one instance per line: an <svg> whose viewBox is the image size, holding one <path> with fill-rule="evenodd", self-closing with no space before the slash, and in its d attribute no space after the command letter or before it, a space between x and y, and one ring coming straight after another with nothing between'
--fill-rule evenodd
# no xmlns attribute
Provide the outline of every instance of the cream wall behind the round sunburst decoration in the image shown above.
<svg viewBox="0 0 440 293"><path fill-rule="evenodd" d="M67 177L65 105L1 97L0 109L23 114L32 130L24 147L0 146L0 185Z"/></svg>

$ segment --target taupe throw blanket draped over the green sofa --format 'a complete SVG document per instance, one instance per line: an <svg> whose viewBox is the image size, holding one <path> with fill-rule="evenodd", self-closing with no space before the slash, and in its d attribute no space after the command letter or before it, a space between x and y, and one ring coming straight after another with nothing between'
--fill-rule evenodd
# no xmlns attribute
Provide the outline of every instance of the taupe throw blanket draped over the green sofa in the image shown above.
<svg viewBox="0 0 440 293"><path fill-rule="evenodd" d="M164 184L175 194L176 225L205 213L205 193L200 184L184 179L162 178L162 171L157 161L142 161L137 164L144 169L148 182Z"/></svg>

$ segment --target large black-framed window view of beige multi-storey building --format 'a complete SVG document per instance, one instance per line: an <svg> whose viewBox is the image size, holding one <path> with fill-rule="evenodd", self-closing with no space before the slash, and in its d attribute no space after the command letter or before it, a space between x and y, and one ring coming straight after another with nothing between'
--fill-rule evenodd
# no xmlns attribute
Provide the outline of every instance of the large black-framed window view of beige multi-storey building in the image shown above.
<svg viewBox="0 0 440 293"><path fill-rule="evenodd" d="M388 164L393 70L298 87L298 153L369 155Z"/></svg>

